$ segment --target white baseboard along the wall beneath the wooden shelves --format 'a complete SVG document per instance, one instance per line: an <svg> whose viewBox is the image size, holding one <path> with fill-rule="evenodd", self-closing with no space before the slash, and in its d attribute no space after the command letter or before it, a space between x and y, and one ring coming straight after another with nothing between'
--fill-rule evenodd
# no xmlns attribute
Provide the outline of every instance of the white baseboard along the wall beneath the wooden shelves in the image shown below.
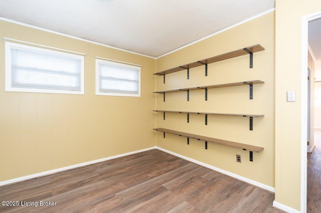
<svg viewBox="0 0 321 213"><path fill-rule="evenodd" d="M271 192L275 192L275 188L274 188L274 187L271 187L271 186L269 186L269 185L266 185L266 184L263 184L263 183L254 181L254 180L252 180L252 179L249 179L249 178L240 176L240 175L238 175L238 174L234 174L234 173L232 173L232 172L223 170L223 169L221 169L221 168L217 168L217 167L215 167L215 166L213 166L213 165L210 165L210 164L207 164L207 163L204 163L204 162L195 160L195 159L190 158L190 157L186 157L186 156L184 156L184 155L175 153L175 152L173 152L173 151L169 151L169 150L167 150L167 149L164 149L164 148L161 148L161 147L158 147L158 146L156 146L156 148L159 149L159 150L161 150L161 151L165 151L165 152L167 152L167 153L170 153L170 154L173 154L173 155L175 155L175 156L178 156L178 157L181 157L181 158L183 158L183 159L186 159L186 160L188 160L188 161L197 163L197 164L202 165L202 166L204 166L204 167L207 167L207 168L213 169L213 170L215 170L215 171L221 172L221 173L223 173L223 174L229 175L229 176L234 177L234 178L236 178L236 179L242 180L242 181L244 181L244 182L250 183L250 184L255 185L255 186L257 186L257 187L266 189L266 190L271 191Z"/></svg>

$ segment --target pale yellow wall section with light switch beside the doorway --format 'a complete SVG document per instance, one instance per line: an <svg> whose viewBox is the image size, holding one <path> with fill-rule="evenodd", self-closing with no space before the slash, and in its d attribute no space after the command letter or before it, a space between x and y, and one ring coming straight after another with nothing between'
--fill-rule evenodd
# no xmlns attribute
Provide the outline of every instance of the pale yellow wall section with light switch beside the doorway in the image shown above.
<svg viewBox="0 0 321 213"><path fill-rule="evenodd" d="M275 201L297 210L301 208L301 52L307 53L301 47L301 21L319 10L319 0L276 0ZM296 91L296 102L286 102L287 90Z"/></svg>

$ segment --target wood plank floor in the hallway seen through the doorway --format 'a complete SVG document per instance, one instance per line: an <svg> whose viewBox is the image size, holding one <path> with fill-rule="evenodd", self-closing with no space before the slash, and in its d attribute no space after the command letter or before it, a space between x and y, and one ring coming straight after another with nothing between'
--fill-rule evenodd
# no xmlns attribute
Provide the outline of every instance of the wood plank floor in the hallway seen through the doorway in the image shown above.
<svg viewBox="0 0 321 213"><path fill-rule="evenodd" d="M321 129L314 130L315 148L307 154L307 212L321 212Z"/></svg>

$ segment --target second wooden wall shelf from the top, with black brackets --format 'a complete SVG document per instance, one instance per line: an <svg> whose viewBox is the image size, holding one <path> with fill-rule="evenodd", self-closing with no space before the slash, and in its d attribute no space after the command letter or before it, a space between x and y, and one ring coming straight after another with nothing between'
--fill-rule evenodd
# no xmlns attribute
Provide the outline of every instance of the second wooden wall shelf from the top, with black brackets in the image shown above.
<svg viewBox="0 0 321 213"><path fill-rule="evenodd" d="M248 81L223 83L223 84L216 84L216 85L207 85L207 86L197 86L197 87L189 87L189 88L154 91L153 93L163 93L164 94L164 101L165 101L165 93L167 93L167 92L187 91L187 100L189 100L190 90L205 89L205 100L207 100L207 89L209 89L209 88L222 88L222 87L230 87L230 86L249 85L250 86L250 99L253 99L253 84L260 84L260 83L264 83L264 81L262 81L262 80L248 80Z"/></svg>

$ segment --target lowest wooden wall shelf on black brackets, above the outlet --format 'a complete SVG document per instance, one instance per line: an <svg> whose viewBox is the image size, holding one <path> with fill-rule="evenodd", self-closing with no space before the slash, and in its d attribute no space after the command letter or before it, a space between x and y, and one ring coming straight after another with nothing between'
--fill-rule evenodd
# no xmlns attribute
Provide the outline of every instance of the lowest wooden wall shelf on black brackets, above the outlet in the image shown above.
<svg viewBox="0 0 321 213"><path fill-rule="evenodd" d="M176 130L167 129L167 128L153 128L153 129L156 131L163 131L164 137L165 137L165 132L167 132L167 133L171 133L171 134L185 136L187 138L194 138L194 139L198 139L198 140L203 140L206 142L205 143L206 149L207 149L207 142L213 142L213 143L217 143L220 145L225 145L225 146L230 146L233 148L247 150L247 151L250 151L250 161L253 161L253 153L252 153L253 151L260 152L264 149L263 147L259 147L259 146L255 146L255 145L249 145L249 144L233 142L233 141L229 141L229 140L207 137L207 136L202 136L202 135L198 135L198 134L191 134L191 133L176 131ZM188 139L188 142L189 142L189 139Z"/></svg>

